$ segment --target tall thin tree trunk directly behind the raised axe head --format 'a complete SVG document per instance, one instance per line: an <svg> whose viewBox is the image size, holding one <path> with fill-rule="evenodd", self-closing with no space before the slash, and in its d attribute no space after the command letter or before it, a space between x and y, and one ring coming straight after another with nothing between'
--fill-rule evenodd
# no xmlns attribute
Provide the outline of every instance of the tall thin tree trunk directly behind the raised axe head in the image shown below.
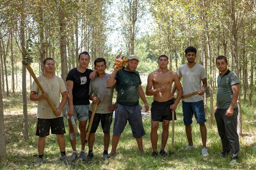
<svg viewBox="0 0 256 170"><path fill-rule="evenodd" d="M25 9L25 0L22 0L22 11ZM21 40L21 52L22 60L25 60L27 57L26 44L25 44L25 13L21 13L20 18L20 40ZM23 102L23 137L25 141L29 140L29 124L28 124L28 115L27 115L27 84L26 84L26 67L22 64L22 102Z"/></svg>

